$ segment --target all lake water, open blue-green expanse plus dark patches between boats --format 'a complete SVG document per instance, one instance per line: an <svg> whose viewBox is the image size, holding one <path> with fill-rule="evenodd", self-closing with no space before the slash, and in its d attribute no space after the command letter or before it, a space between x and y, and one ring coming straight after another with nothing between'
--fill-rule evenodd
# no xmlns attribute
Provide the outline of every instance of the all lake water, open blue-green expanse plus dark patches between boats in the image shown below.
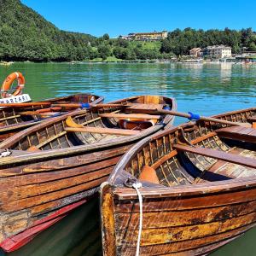
<svg viewBox="0 0 256 256"><path fill-rule="evenodd" d="M15 63L0 66L0 82L14 71L26 78L34 101L90 92L105 102L127 96L173 96L178 111L210 115L256 103L256 65ZM185 121L177 119L176 124ZM97 201L84 205L9 255L101 255ZM256 255L256 230L212 255ZM0 252L0 255L1 252ZM4 255L4 253L3 253Z"/></svg>

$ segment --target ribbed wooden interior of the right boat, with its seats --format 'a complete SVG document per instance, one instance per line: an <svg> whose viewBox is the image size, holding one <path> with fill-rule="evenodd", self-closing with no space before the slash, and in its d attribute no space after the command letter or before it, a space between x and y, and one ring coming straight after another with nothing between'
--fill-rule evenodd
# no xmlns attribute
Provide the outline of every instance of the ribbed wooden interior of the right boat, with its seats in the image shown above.
<svg viewBox="0 0 256 256"><path fill-rule="evenodd" d="M188 123L152 137L134 148L118 170L146 182L149 187L176 186L256 176L256 111L219 117L250 122L252 128L204 121ZM254 125L254 126L253 126ZM130 158L131 157L131 158ZM123 172L123 171L120 171ZM113 181L118 181L118 172Z"/></svg>

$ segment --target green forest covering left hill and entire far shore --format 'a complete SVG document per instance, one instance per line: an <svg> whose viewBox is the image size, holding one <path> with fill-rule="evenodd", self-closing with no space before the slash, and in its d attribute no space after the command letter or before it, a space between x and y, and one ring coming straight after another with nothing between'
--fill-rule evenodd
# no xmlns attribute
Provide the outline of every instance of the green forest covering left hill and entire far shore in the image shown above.
<svg viewBox="0 0 256 256"><path fill-rule="evenodd" d="M256 51L256 33L240 31L176 29L161 42L140 43L64 32L20 0L0 0L0 61L85 61L109 56L121 60L170 59L188 55L189 49L224 44L233 53ZM148 45L150 47L148 47Z"/></svg>

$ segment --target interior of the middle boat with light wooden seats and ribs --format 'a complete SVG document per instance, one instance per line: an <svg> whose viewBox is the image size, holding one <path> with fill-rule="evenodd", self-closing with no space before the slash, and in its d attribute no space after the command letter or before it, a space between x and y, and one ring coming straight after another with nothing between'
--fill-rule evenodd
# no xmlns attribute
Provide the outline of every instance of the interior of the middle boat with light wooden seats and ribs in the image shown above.
<svg viewBox="0 0 256 256"><path fill-rule="evenodd" d="M38 151L137 136L156 125L162 127L166 120L166 114L150 113L150 109L173 107L171 98L161 96L134 96L112 103L119 107L77 110L44 121L0 143L0 148Z"/></svg>

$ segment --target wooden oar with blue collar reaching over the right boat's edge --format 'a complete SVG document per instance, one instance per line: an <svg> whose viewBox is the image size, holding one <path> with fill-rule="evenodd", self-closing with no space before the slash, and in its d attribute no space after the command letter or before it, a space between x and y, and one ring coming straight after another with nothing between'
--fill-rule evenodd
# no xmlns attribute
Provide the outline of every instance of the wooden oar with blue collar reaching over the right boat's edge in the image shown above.
<svg viewBox="0 0 256 256"><path fill-rule="evenodd" d="M170 111L170 110L164 110L164 109L155 109L155 113L166 113L166 114L172 114L175 116L180 116L187 118L189 120L203 120L203 121L209 121L209 122L214 122L214 123L220 123L224 125L239 125L247 128L251 128L252 125L248 123L238 123L238 122L231 122L223 119L214 119L212 117L207 117L207 116L202 116L199 114L194 114L194 113L182 113L182 112L176 112L176 111Z"/></svg>

